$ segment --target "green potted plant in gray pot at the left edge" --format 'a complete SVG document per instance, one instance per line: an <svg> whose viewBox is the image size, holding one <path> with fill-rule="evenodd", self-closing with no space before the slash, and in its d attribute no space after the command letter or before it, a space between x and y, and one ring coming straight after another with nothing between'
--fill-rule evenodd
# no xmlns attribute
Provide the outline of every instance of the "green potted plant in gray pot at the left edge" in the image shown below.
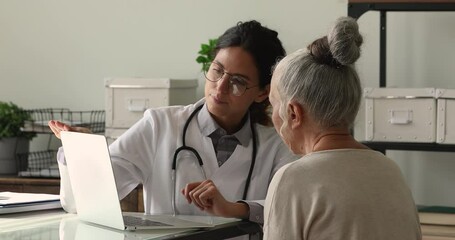
<svg viewBox="0 0 455 240"><path fill-rule="evenodd" d="M30 112L12 102L0 101L0 174L15 174L19 171L17 156L28 152L30 140L36 136L33 132L21 130L24 123L31 120Z"/></svg>

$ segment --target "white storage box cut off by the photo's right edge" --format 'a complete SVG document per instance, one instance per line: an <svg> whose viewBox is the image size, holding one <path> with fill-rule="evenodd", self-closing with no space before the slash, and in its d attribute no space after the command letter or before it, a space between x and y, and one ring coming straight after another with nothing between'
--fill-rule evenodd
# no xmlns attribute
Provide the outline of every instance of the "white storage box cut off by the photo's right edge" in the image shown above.
<svg viewBox="0 0 455 240"><path fill-rule="evenodd" d="M436 142L455 144L455 89L436 89Z"/></svg>

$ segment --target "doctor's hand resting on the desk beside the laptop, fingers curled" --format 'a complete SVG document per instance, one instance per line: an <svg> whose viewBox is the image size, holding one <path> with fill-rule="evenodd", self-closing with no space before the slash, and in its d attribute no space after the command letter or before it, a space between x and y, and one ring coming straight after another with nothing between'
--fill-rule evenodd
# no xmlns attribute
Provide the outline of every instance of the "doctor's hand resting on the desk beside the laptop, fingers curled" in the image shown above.
<svg viewBox="0 0 455 240"><path fill-rule="evenodd" d="M249 207L243 202L229 202L218 191L212 180L189 183L181 190L188 203L221 217L248 218Z"/></svg>

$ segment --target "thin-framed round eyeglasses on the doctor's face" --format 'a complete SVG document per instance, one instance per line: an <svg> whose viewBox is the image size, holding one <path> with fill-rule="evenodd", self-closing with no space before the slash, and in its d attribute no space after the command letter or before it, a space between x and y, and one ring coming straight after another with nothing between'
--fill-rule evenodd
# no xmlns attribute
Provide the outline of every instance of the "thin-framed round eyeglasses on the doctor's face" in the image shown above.
<svg viewBox="0 0 455 240"><path fill-rule="evenodd" d="M218 82L223 78L224 74L229 75L229 91L232 95L240 97L242 96L247 89L259 87L259 85L247 87L248 81L245 77L231 74L224 71L223 67L215 62L210 64L210 67L207 71L204 71L205 78L210 82Z"/></svg>

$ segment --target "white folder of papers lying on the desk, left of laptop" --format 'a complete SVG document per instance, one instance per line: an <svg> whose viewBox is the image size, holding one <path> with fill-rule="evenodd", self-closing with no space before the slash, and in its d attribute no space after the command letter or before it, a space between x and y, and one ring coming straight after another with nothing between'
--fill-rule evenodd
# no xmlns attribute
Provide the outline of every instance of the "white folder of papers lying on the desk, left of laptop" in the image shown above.
<svg viewBox="0 0 455 240"><path fill-rule="evenodd" d="M62 208L56 194L0 192L0 214Z"/></svg>

